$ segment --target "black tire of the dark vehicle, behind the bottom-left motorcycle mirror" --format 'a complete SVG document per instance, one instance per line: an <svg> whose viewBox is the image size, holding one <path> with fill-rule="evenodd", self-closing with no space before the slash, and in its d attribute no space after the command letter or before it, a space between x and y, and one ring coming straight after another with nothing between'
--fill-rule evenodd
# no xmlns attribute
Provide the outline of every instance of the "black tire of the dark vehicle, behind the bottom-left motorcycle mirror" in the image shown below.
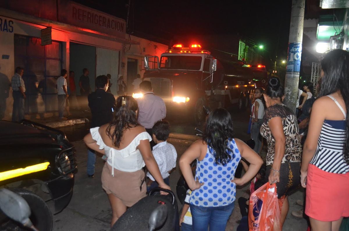
<svg viewBox="0 0 349 231"><path fill-rule="evenodd" d="M23 199L27 201L31 209L31 215L29 218L38 230L52 230L52 213L50 208L47 206L46 202L43 201L43 199L41 199L38 195L25 189L16 188L10 190L21 195ZM25 231L28 229L23 228L21 225L18 225L16 222L7 218L1 221L0 230Z"/></svg>

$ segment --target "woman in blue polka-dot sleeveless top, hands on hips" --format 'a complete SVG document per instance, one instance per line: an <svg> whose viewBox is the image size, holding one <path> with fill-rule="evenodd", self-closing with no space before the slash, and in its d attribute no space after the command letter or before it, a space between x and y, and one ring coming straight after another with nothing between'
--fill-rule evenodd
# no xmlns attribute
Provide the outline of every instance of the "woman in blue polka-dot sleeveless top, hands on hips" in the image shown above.
<svg viewBox="0 0 349 231"><path fill-rule="evenodd" d="M260 156L243 141L234 139L229 112L218 108L206 121L202 140L195 141L181 156L180 170L192 190L190 210L193 230L225 230L234 209L236 185L249 182L263 164ZM250 166L242 178L235 178L236 167L244 157ZM197 159L195 178L190 164Z"/></svg>

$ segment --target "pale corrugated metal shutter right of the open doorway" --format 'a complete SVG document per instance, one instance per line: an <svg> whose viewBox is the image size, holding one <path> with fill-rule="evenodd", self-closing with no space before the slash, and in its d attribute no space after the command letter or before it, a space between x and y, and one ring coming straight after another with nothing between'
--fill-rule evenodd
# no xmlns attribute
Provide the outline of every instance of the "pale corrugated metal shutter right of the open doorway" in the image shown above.
<svg viewBox="0 0 349 231"><path fill-rule="evenodd" d="M96 47L96 76L111 75L111 93L117 95L119 75L119 51Z"/></svg>

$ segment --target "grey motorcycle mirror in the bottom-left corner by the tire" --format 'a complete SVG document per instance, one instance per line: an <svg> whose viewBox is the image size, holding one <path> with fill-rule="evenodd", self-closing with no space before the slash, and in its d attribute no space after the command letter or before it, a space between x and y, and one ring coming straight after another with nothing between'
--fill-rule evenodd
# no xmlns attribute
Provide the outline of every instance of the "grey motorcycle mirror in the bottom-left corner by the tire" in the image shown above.
<svg viewBox="0 0 349 231"><path fill-rule="evenodd" d="M0 209L6 216L23 226L33 225L29 219L31 211L27 201L6 188L0 189Z"/></svg>

